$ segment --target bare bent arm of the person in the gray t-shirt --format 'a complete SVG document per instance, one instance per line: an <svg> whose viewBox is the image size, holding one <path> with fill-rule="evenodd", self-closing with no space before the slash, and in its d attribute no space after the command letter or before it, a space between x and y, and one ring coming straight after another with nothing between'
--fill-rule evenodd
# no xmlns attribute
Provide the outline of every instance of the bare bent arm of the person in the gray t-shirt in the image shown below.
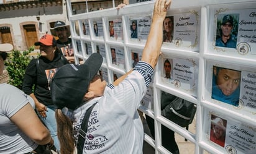
<svg viewBox="0 0 256 154"><path fill-rule="evenodd" d="M11 116L11 121L30 139L34 140L35 143L53 145L53 139L50 136L49 130L39 120L30 103L27 103L17 113Z"/></svg>

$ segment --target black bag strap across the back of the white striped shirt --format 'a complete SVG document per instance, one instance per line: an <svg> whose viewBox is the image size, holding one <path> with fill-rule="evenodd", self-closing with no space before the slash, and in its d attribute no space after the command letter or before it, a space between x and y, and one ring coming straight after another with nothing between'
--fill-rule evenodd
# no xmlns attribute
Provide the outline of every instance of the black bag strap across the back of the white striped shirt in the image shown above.
<svg viewBox="0 0 256 154"><path fill-rule="evenodd" d="M91 110L93 110L93 107L95 105L96 105L96 103L94 103L94 105L92 105L91 107L89 107L89 109L87 109L85 116L83 118L83 122L82 122L81 128L79 130L78 143L77 143L78 154L83 153L83 146L85 145L85 138L86 138L86 132L88 129L87 126L88 126L89 116L91 114Z"/></svg>

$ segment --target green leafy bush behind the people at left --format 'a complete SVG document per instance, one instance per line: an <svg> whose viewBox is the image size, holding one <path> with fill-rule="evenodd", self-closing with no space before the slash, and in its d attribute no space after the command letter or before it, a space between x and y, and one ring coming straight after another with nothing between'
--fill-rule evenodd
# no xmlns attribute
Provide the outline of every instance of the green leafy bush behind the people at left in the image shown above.
<svg viewBox="0 0 256 154"><path fill-rule="evenodd" d="M22 89L25 69L31 59L34 58L33 56L30 56L32 51L34 51L34 46L30 46L28 50L23 52L14 50L8 54L5 65L9 74L9 84Z"/></svg>

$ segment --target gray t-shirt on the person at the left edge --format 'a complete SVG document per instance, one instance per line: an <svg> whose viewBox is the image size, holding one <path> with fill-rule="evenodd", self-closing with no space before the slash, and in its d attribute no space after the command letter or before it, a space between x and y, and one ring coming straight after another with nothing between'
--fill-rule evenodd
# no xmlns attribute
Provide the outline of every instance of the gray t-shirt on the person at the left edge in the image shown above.
<svg viewBox="0 0 256 154"><path fill-rule="evenodd" d="M0 153L27 153L37 147L10 118L27 103L35 108L34 100L18 88L0 84Z"/></svg>

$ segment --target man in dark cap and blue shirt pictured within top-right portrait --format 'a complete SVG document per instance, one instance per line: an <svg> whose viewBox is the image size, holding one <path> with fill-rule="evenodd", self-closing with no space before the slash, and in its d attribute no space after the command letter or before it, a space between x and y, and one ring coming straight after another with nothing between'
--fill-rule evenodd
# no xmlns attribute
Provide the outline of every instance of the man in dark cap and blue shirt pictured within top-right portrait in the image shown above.
<svg viewBox="0 0 256 154"><path fill-rule="evenodd" d="M221 22L221 29L219 30L219 35L216 35L216 46L225 48L236 48L237 30L234 30L234 18L232 15L224 15ZM218 30L217 30L218 33Z"/></svg>

